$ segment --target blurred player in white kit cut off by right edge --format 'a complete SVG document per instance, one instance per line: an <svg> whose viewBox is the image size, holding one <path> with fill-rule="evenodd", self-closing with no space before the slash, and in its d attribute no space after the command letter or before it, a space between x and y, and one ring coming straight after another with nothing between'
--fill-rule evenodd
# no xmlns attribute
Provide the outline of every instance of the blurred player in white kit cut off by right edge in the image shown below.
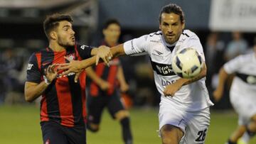
<svg viewBox="0 0 256 144"><path fill-rule="evenodd" d="M244 134L242 141L248 143L256 132L256 38L254 52L240 55L225 63L219 72L219 84L213 96L219 101L223 96L225 81L235 73L230 88L230 101L238 113L238 128L230 135L227 144L236 144Z"/></svg>

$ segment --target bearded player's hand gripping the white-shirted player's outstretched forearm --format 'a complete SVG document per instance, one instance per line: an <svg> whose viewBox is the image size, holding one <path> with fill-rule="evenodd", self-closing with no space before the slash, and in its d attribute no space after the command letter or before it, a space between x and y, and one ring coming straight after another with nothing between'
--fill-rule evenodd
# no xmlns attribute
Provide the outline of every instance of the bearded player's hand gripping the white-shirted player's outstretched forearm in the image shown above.
<svg viewBox="0 0 256 144"><path fill-rule="evenodd" d="M105 45L101 45L97 51L96 65L99 63L99 60L102 59L106 65L110 66L109 62L112 59L112 57L113 57L113 55L110 52L110 48Z"/></svg>

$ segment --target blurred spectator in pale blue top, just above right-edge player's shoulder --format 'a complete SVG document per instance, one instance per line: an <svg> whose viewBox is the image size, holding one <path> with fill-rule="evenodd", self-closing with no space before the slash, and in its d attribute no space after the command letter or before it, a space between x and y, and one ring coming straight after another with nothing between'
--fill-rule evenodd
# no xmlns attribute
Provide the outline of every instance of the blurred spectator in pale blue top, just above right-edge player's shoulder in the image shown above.
<svg viewBox="0 0 256 144"><path fill-rule="evenodd" d="M234 57L244 54L247 50L247 41L242 38L242 33L235 31L232 33L233 40L228 43L228 47L225 50L225 60L229 61Z"/></svg>

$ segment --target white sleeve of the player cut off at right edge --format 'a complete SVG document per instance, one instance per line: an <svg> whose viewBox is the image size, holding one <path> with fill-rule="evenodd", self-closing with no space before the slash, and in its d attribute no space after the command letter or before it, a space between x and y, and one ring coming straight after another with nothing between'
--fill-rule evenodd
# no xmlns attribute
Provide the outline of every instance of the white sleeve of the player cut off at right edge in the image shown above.
<svg viewBox="0 0 256 144"><path fill-rule="evenodd" d="M244 58L242 57L242 55L240 55L240 56L235 57L234 59L226 62L225 65L223 66L225 72L227 72L228 74L237 72L238 70L240 70L240 67L242 67L242 65L245 64L245 62L243 60L244 60Z"/></svg>

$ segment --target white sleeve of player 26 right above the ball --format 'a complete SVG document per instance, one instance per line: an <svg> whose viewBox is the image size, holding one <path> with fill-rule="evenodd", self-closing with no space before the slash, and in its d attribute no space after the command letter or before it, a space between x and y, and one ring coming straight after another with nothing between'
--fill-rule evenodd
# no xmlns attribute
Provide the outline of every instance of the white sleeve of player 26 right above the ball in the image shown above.
<svg viewBox="0 0 256 144"><path fill-rule="evenodd" d="M206 57L204 55L204 52L203 52L203 46L198 38L197 35L193 35L189 38L188 40L188 43L187 43L187 48L194 48L198 54L202 57L203 59L203 62L206 61Z"/></svg>

